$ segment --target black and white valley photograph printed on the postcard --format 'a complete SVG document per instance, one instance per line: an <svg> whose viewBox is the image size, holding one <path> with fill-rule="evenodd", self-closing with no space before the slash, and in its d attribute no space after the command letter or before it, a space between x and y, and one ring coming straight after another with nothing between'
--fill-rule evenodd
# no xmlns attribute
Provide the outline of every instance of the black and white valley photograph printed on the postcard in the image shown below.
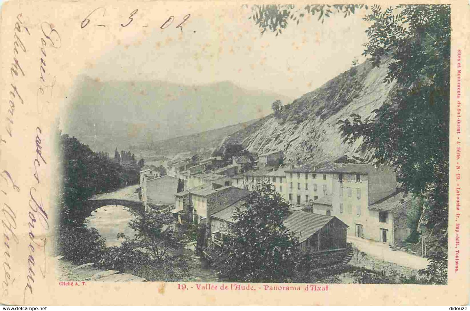
<svg viewBox="0 0 470 311"><path fill-rule="evenodd" d="M61 280L446 284L450 6L222 10L76 78Z"/></svg>

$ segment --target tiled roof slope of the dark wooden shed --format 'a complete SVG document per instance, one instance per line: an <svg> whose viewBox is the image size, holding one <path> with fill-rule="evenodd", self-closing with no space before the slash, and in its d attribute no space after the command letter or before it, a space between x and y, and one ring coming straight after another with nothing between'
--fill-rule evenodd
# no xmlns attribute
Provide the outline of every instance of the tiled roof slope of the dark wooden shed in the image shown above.
<svg viewBox="0 0 470 311"><path fill-rule="evenodd" d="M334 216L325 216L304 211L294 211L286 220L285 227L296 234L302 243L329 223Z"/></svg>

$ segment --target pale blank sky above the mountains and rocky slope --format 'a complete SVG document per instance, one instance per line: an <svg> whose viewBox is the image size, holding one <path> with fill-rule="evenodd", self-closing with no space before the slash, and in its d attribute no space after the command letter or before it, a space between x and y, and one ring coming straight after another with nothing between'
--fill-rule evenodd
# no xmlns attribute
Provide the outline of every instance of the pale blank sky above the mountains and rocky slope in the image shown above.
<svg viewBox="0 0 470 311"><path fill-rule="evenodd" d="M367 42L364 12L344 18L335 14L322 24L304 17L289 24L281 35L261 35L248 19L250 8L219 6L187 8L175 14L168 29L145 27L149 23L133 16L141 32L120 32L117 44L101 51L83 74L101 80L164 80L187 85L232 81L247 89L266 90L297 98L348 70L356 57L365 58ZM191 16L182 31L170 29ZM154 23L154 21L152 21ZM169 31L170 30L170 31Z"/></svg>

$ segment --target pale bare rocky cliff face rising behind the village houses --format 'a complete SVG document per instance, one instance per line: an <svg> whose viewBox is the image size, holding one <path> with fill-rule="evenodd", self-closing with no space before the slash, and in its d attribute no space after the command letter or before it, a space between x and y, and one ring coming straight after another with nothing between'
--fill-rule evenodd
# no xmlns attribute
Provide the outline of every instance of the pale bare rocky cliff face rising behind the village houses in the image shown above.
<svg viewBox="0 0 470 311"><path fill-rule="evenodd" d="M260 119L250 128L228 136L224 143L243 143L254 153L283 150L287 161L316 163L343 155L370 162L370 150L342 143L338 120L355 113L374 117L384 104L394 83L384 83L387 62L373 68L369 61L333 78L313 92L306 93L281 112Z"/></svg>

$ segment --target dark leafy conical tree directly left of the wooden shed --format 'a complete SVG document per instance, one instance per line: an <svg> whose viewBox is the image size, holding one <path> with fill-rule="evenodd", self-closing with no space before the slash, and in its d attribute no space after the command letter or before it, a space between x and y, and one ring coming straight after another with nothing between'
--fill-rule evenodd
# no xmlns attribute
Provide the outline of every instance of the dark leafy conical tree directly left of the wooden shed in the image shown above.
<svg viewBox="0 0 470 311"><path fill-rule="evenodd" d="M220 275L239 282L287 282L296 272L298 239L282 221L289 203L264 183L235 212L233 235L216 259Z"/></svg>

